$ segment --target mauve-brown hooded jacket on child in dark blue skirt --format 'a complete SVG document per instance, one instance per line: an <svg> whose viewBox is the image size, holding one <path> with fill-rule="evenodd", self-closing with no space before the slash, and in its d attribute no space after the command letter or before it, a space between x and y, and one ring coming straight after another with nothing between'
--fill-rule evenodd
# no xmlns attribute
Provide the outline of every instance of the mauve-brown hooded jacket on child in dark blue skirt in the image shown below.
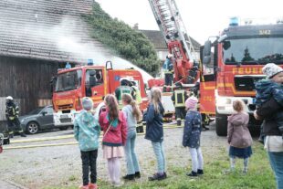
<svg viewBox="0 0 283 189"><path fill-rule="evenodd" d="M246 148L252 145L252 137L247 129L249 116L238 112L228 117L228 143L236 148Z"/></svg>

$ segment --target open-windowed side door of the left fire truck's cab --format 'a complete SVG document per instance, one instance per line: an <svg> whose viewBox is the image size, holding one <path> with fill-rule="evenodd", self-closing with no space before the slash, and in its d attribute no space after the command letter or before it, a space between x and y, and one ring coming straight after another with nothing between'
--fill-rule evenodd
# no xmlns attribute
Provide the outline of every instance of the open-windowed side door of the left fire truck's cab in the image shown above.
<svg viewBox="0 0 283 189"><path fill-rule="evenodd" d="M104 85L104 70L102 68L87 69L85 78L86 96L92 97L94 101L101 101L106 95L106 88Z"/></svg>

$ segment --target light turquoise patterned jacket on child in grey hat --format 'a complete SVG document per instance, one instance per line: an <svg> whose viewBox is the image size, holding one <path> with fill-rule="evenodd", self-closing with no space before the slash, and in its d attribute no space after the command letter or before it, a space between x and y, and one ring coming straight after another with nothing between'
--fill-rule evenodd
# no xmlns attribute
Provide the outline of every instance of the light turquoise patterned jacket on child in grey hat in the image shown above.
<svg viewBox="0 0 283 189"><path fill-rule="evenodd" d="M87 152L99 148L100 124L91 112L81 110L74 122L74 136L80 151Z"/></svg>

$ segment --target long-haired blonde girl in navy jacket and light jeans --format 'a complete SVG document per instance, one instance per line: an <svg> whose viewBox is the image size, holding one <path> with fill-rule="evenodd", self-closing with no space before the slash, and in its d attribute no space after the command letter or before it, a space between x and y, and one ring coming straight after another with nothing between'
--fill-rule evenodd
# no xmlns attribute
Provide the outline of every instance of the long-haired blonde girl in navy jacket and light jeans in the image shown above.
<svg viewBox="0 0 283 189"><path fill-rule="evenodd" d="M149 177L150 181L163 180L167 177L165 173L166 163L163 147L163 113L162 92L158 88L152 88L151 103L144 114L146 121L145 139L152 142L152 148L157 159L157 173Z"/></svg>

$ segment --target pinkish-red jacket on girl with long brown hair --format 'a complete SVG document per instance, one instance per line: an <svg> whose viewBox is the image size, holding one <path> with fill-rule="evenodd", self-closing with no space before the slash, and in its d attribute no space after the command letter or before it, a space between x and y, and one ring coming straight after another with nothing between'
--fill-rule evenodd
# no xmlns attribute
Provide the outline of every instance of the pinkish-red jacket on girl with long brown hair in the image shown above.
<svg viewBox="0 0 283 189"><path fill-rule="evenodd" d="M108 111L101 112L100 114L100 127L101 131L103 131L102 144L107 146L125 145L127 140L127 121L123 112L119 111L117 127L110 126L107 115ZM105 134L109 127L110 130Z"/></svg>

